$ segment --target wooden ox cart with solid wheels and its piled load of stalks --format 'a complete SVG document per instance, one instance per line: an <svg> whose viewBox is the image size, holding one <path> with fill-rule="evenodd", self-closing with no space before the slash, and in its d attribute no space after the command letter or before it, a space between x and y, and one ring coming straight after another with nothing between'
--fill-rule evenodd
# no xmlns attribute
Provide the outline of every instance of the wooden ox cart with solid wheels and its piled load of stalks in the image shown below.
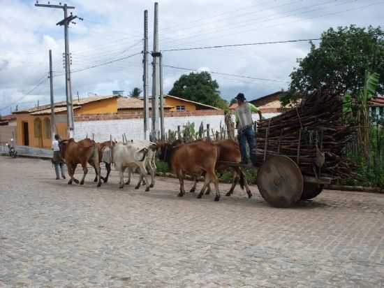
<svg viewBox="0 0 384 288"><path fill-rule="evenodd" d="M278 208L313 199L334 179L353 175L344 147L353 133L343 121L341 96L323 91L299 106L258 122L257 185ZM244 166L226 163L228 166Z"/></svg>

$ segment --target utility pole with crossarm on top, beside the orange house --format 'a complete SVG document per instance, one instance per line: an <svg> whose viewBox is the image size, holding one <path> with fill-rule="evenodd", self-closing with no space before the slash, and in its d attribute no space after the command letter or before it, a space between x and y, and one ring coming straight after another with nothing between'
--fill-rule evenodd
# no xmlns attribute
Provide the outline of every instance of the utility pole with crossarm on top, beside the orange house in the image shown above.
<svg viewBox="0 0 384 288"><path fill-rule="evenodd" d="M77 16L73 16L72 13L68 16L68 9L75 9L74 6L64 5L51 5L51 4L39 4L36 1L35 6L38 7L47 7L47 8L59 8L64 10L64 19L57 23L57 25L64 26L64 37L65 37L65 69L66 69L66 106L67 106L67 130L68 130L68 138L73 138L74 131L74 123L73 123L73 104L72 104L72 89L71 89L71 68L70 68L70 60L69 60L69 40L68 40L68 25L73 20L77 18ZM82 20L82 18L78 18Z"/></svg>

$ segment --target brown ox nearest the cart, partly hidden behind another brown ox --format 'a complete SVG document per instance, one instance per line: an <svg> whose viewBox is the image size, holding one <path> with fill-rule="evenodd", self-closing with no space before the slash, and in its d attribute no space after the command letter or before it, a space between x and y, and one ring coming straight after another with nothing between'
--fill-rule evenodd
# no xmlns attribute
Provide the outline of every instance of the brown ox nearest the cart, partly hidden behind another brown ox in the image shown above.
<svg viewBox="0 0 384 288"><path fill-rule="evenodd" d="M240 154L239 143L237 141L232 140L222 140L214 142L216 145L219 155L217 157L216 162L216 170L217 171L225 171L228 168L232 168L232 186L230 190L226 194L226 196L230 196L233 194L233 190L235 189L237 182L240 183L242 189L246 189L246 194L251 198L252 193L249 189L248 182L246 182L246 178L244 173L239 167L228 166L228 164L223 164L222 162L232 162L232 163L240 163L242 161L242 155ZM193 187L190 192L195 192L196 184L198 183L198 177L195 177L195 182L193 183ZM207 192L205 194L209 194L211 191L211 187L208 185Z"/></svg>

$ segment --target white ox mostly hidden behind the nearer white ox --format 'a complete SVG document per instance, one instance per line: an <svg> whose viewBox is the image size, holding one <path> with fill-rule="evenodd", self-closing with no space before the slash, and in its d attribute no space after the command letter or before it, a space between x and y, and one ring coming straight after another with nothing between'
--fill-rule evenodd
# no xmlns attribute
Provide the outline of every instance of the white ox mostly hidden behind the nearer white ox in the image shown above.
<svg viewBox="0 0 384 288"><path fill-rule="evenodd" d="M157 150L156 143L147 141L147 140L133 140L131 142L128 142L128 144L129 143L148 148L147 157L145 161L146 162L145 168L147 168L148 172L151 174L151 185L149 185L149 187L151 188L154 187L155 175L156 175L156 150ZM128 180L126 181L126 185L129 185L129 183L131 182L132 173L134 172L140 173L140 171L138 170L139 170L138 168L128 168ZM145 183L143 185L147 183L146 181L147 180L145 180ZM143 178L142 178L142 175L140 175L140 181L138 185L141 185L142 182L143 182Z"/></svg>

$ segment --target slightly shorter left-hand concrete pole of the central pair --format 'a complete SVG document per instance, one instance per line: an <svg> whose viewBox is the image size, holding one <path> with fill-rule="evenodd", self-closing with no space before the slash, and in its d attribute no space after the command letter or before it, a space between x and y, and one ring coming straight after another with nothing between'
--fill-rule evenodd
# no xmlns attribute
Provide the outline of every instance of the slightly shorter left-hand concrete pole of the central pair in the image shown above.
<svg viewBox="0 0 384 288"><path fill-rule="evenodd" d="M144 94L144 138L149 139L149 103L148 103L148 10L144 11L144 49L142 50L142 92Z"/></svg>

